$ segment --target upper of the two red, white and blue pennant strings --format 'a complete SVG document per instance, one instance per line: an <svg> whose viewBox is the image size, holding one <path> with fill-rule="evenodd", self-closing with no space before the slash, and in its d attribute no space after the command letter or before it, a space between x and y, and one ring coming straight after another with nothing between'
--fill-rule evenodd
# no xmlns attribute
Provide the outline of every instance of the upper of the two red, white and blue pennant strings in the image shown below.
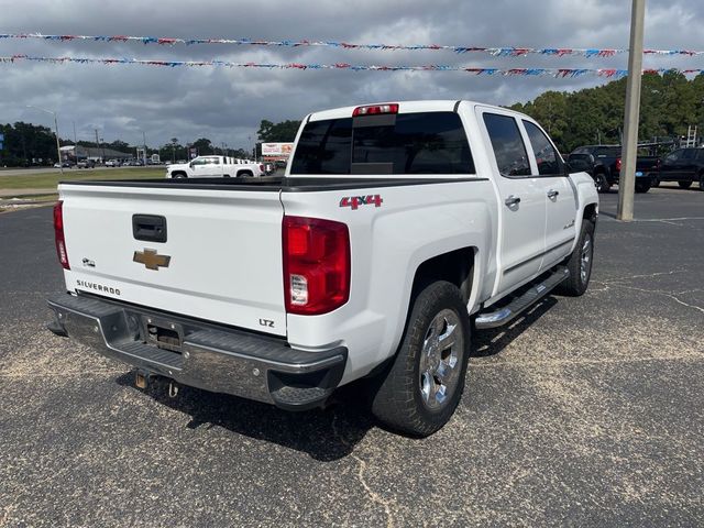
<svg viewBox="0 0 704 528"><path fill-rule="evenodd" d="M395 45L395 44L353 44L339 41L258 41L252 38L174 38L164 36L129 36L129 35L43 35L41 33L3 33L2 38L38 38L44 41L94 41L94 42L141 42L142 44L231 44L231 45L250 45L250 46L274 46L274 47L339 47L343 50L375 50L375 51L450 51L458 54L462 53L486 53L495 57L520 57L526 55L546 55L546 56L582 56L593 57L613 57L628 53L628 50L619 48L582 48L582 47L477 47L477 46L443 46L439 44L415 44L415 45ZM697 56L704 55L704 51L695 50L645 50L646 55L684 55Z"/></svg>

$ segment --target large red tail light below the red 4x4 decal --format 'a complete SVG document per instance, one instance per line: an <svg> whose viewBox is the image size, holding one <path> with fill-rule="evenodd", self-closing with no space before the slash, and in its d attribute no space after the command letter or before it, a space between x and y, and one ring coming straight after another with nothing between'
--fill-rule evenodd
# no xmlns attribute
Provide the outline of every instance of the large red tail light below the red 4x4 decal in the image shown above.
<svg viewBox="0 0 704 528"><path fill-rule="evenodd" d="M286 311L328 314L350 298L350 232L344 223L284 217Z"/></svg>

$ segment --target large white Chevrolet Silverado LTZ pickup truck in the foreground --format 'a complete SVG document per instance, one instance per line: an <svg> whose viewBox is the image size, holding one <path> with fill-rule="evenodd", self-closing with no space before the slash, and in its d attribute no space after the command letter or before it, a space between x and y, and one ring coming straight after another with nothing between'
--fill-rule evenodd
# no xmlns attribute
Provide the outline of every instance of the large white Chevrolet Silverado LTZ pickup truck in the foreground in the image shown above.
<svg viewBox="0 0 704 528"><path fill-rule="evenodd" d="M442 427L473 331L582 295L598 196L527 116L469 101L311 113L283 177L58 187L50 329L153 376L285 409L364 378Z"/></svg>

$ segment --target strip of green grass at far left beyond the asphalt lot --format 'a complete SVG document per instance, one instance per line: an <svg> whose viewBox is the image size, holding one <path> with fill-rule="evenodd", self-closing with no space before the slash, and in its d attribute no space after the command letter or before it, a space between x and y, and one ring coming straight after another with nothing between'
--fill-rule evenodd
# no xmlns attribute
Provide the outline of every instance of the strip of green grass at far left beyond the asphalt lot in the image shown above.
<svg viewBox="0 0 704 528"><path fill-rule="evenodd" d="M35 173L0 177L0 189L51 189L59 182L77 182L84 179L152 179L163 178L165 166L136 168L82 169L70 168L61 173Z"/></svg>

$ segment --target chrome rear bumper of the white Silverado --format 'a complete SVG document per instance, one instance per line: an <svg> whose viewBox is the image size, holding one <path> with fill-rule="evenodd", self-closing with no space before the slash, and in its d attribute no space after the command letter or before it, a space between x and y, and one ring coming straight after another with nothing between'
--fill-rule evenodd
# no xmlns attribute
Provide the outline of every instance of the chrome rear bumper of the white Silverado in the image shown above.
<svg viewBox="0 0 704 528"><path fill-rule="evenodd" d="M55 314L48 329L57 336L152 375L288 410L322 405L346 364L344 346L297 351L282 339L89 296L64 294L47 301ZM177 336L177 344L156 345L154 327Z"/></svg>

